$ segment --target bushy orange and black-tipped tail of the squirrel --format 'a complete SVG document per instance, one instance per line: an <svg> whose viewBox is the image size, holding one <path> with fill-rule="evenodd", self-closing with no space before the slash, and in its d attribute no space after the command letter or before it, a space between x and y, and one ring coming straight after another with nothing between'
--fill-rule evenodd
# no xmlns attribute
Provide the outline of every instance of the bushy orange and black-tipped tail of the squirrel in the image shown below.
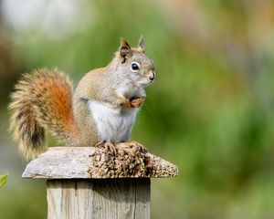
<svg viewBox="0 0 274 219"><path fill-rule="evenodd" d="M78 131L72 113L72 83L58 69L25 74L11 95L10 130L26 159L47 148L45 129L61 141L76 143Z"/></svg>

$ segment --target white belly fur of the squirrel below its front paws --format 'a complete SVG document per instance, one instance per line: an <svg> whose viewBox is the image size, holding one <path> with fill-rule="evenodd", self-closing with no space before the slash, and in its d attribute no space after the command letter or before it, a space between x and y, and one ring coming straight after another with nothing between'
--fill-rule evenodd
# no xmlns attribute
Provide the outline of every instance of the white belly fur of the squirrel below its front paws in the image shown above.
<svg viewBox="0 0 274 219"><path fill-rule="evenodd" d="M89 110L95 121L100 141L128 141L137 110L113 109L98 101L89 100Z"/></svg>

